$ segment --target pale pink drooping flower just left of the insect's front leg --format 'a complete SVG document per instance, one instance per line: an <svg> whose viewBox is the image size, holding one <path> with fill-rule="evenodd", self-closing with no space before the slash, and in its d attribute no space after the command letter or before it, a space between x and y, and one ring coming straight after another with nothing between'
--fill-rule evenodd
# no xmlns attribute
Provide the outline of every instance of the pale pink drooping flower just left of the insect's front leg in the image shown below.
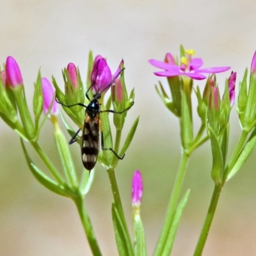
<svg viewBox="0 0 256 256"><path fill-rule="evenodd" d="M42 77L41 83L42 83L42 92L44 97L43 111L46 114L48 109L51 106L52 99L54 98L54 89L52 88L52 84L50 83L50 81L45 77ZM58 115L58 113L59 113L59 106L56 100L54 99L50 114Z"/></svg>

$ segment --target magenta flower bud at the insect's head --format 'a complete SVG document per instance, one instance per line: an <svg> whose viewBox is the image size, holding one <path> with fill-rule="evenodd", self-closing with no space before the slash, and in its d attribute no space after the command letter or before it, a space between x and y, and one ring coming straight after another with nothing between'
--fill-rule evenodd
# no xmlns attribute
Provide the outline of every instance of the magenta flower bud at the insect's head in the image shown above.
<svg viewBox="0 0 256 256"><path fill-rule="evenodd" d="M106 92L111 86L112 75L107 61L98 55L92 69L91 83L93 93Z"/></svg>

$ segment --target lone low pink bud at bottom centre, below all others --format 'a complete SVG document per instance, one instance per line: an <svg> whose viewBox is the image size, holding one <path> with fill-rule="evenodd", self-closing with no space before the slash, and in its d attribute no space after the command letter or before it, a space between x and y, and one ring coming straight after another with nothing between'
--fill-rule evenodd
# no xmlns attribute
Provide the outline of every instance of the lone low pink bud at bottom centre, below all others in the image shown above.
<svg viewBox="0 0 256 256"><path fill-rule="evenodd" d="M132 177L132 206L140 206L143 192L142 176L139 170L136 170Z"/></svg>

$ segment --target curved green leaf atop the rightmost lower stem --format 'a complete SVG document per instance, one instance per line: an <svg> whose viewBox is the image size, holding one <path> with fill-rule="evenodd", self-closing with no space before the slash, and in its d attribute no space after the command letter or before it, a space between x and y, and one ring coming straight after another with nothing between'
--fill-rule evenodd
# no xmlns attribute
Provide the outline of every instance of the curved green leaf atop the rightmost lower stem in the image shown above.
<svg viewBox="0 0 256 256"><path fill-rule="evenodd" d="M211 177L214 180L216 185L220 185L222 183L222 174L223 174L223 156L220 147L220 143L218 138L211 127L207 127L207 131L209 133L209 137L211 140L211 148L212 148L212 170Z"/></svg>

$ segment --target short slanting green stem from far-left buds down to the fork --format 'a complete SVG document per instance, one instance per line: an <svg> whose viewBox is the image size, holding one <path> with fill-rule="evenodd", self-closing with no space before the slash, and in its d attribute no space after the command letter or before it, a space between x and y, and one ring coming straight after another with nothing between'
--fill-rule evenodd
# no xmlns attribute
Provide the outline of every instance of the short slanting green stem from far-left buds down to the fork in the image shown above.
<svg viewBox="0 0 256 256"><path fill-rule="evenodd" d="M37 142L31 141L31 145L35 148L37 154L40 156L42 161L45 163L49 171L51 172L52 176L57 180L57 182L63 186L65 186L65 181L61 177L58 170L55 168L54 164L52 164L51 160L47 157L44 150L38 145ZM66 186L65 186L66 187Z"/></svg>

